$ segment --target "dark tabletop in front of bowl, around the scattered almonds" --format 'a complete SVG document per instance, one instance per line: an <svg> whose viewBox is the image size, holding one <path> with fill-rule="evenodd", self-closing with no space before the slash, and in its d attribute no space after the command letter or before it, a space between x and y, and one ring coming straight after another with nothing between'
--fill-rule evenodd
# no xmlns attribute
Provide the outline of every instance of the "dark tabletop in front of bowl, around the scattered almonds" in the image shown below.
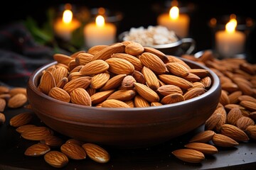
<svg viewBox="0 0 256 170"><path fill-rule="evenodd" d="M6 122L0 125L0 170L1 169L57 169L48 165L42 157L28 157L24 155L26 148L35 144L35 141L23 139L16 128L9 125L14 115L28 111L26 108L6 108ZM31 124L39 125L36 117ZM240 143L232 148L218 147L218 153L206 155L200 164L182 162L171 154L174 149L183 148L188 140L197 132L203 130L203 125L193 132L177 137L169 142L139 149L117 149L102 146L110 153L110 162L100 164L93 162L89 157L83 160L70 159L63 169L90 169L90 170L151 170L151 169L256 169L256 142ZM68 139L60 134L63 139Z"/></svg>

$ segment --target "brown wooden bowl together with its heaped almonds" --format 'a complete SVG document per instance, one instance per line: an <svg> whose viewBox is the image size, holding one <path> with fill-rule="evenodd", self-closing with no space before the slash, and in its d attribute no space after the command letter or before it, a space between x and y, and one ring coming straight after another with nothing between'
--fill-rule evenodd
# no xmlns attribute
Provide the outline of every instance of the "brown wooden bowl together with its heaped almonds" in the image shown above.
<svg viewBox="0 0 256 170"><path fill-rule="evenodd" d="M158 145L203 125L220 99L208 67L138 42L53 59L28 80L28 101L43 123L85 142Z"/></svg>

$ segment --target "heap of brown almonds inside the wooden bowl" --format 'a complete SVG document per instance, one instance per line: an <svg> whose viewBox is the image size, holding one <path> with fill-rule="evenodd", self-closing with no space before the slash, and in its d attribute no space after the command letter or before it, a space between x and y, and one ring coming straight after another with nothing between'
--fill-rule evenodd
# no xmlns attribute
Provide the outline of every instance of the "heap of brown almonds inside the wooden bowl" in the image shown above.
<svg viewBox="0 0 256 170"><path fill-rule="evenodd" d="M57 64L43 71L38 90L84 106L160 106L200 96L211 85L207 69L132 41L53 58Z"/></svg>

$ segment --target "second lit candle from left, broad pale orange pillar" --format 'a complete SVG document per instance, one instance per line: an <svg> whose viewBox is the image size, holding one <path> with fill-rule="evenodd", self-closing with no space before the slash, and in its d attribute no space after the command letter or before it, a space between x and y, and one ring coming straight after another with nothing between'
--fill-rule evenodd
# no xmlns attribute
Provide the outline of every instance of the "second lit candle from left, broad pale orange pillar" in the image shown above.
<svg viewBox="0 0 256 170"><path fill-rule="evenodd" d="M97 16L95 22L88 23L84 28L85 45L111 45L115 42L117 28L113 23L105 23L103 16Z"/></svg>

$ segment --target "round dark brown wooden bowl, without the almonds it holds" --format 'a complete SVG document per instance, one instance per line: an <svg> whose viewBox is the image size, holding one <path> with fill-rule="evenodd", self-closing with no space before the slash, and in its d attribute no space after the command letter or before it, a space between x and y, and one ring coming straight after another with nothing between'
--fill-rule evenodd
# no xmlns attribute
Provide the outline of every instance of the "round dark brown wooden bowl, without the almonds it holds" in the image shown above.
<svg viewBox="0 0 256 170"><path fill-rule="evenodd" d="M208 69L182 59L191 68ZM44 69L34 72L27 84L28 101L43 123L68 137L119 148L158 145L195 130L205 123L218 106L220 81L208 69L212 86L205 94L187 101L147 108L97 108L58 101L38 91Z"/></svg>

